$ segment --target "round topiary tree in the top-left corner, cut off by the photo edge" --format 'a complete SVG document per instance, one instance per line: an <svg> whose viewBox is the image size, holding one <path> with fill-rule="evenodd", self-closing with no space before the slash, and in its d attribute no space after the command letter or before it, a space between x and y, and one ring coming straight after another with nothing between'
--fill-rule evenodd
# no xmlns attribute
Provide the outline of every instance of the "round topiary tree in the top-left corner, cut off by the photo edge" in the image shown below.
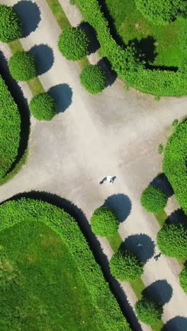
<svg viewBox="0 0 187 331"><path fill-rule="evenodd" d="M0 4L0 18L1 42L11 42L21 38L23 34L21 18L11 6Z"/></svg>

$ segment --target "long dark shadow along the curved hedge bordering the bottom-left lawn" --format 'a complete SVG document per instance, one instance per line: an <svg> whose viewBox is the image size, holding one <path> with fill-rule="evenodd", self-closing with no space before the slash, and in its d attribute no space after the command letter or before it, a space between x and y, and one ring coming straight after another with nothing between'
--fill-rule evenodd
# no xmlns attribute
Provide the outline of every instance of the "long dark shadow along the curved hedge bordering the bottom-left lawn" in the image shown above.
<svg viewBox="0 0 187 331"><path fill-rule="evenodd" d="M67 199L57 196L56 194L52 194L49 192L38 192L38 191L31 191L31 192L24 192L20 194L16 194L8 200L16 200L20 199L21 197L26 197L30 199L40 199L42 201L48 202L50 204L54 204L55 206L64 209L67 211L79 224L79 228L81 229L82 233L84 234L87 242L89 243L89 247L94 254L96 262L98 265L101 266L102 272L106 281L108 281L111 291L113 292L115 298L118 301L120 309L122 310L125 318L127 318L128 323L132 327L132 330L135 331L142 331L142 328L135 316L135 313L128 302L128 299L120 287L118 281L113 278L110 274L110 269L108 266L108 259L106 255L103 253L100 243L98 242L96 236L91 231L91 226L89 221L86 219L84 212L77 207L77 205L73 204ZM1 202L1 204L4 202Z"/></svg>

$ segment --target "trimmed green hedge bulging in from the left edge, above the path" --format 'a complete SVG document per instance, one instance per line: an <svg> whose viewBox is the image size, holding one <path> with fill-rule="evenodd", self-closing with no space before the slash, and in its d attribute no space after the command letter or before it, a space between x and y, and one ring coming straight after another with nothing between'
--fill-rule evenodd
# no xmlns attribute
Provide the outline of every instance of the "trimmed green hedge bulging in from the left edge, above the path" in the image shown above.
<svg viewBox="0 0 187 331"><path fill-rule="evenodd" d="M21 117L8 87L0 76L0 178L8 173L18 155Z"/></svg>

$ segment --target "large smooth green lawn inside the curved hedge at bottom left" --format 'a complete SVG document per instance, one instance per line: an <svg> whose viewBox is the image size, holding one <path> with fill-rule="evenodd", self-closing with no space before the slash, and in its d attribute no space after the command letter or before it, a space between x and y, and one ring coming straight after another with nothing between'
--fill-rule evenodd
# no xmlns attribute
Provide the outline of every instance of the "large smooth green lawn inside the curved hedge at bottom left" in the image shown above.
<svg viewBox="0 0 187 331"><path fill-rule="evenodd" d="M101 330L72 255L44 223L1 231L0 266L0 330Z"/></svg>

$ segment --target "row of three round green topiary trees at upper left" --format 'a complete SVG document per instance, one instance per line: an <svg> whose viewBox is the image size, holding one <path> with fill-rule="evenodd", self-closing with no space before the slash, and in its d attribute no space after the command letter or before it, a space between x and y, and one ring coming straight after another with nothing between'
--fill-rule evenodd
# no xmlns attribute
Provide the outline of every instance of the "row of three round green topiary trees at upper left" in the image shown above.
<svg viewBox="0 0 187 331"><path fill-rule="evenodd" d="M23 35L22 21L11 6L0 5L0 40L11 42ZM8 62L13 79L30 81L38 76L35 58L29 52L16 52ZM38 120L52 120L57 114L57 103L49 93L35 95L30 101L30 112Z"/></svg>

